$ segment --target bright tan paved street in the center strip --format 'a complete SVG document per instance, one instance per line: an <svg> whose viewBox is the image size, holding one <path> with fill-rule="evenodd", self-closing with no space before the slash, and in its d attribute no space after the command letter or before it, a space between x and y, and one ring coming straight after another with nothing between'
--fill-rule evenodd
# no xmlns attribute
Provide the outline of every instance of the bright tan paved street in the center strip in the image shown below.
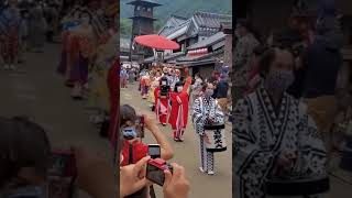
<svg viewBox="0 0 352 198"><path fill-rule="evenodd" d="M146 100L142 100L140 92L138 91L136 82L129 86L128 89L121 90L121 103L128 103L136 109L138 112L155 118L155 113L148 108ZM185 142L174 142L173 132L170 127L160 127L170 141L175 156L172 162L176 162L186 168L187 176L190 180L190 198L231 198L232 195L232 173L231 173L231 133L230 125L227 125L227 143L228 151L222 153L216 153L216 175L207 176L199 172L199 143L198 136L193 130L191 122L189 120L188 128L185 132ZM155 143L153 136L150 133L145 133L145 143ZM156 187L158 195L161 195L161 188ZM162 197L162 196L157 196Z"/></svg>

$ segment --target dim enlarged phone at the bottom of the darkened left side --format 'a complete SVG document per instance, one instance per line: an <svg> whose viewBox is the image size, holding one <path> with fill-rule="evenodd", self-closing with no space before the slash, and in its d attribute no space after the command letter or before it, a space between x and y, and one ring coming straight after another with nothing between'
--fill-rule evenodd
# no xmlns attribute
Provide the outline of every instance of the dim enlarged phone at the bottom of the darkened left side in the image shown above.
<svg viewBox="0 0 352 198"><path fill-rule="evenodd" d="M75 155L70 151L53 151L48 169L48 197L73 198L77 176Z"/></svg>

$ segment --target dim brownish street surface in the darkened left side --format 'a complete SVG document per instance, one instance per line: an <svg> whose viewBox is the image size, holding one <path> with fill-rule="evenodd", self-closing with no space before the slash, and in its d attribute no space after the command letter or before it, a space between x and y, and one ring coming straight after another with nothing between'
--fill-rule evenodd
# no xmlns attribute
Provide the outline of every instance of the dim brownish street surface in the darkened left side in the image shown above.
<svg viewBox="0 0 352 198"><path fill-rule="evenodd" d="M69 89L56 74L59 45L47 45L44 54L28 54L18 72L0 67L0 116L28 116L43 125L53 147L84 145L110 154L108 142L88 122L84 101L73 101ZM86 198L87 196L81 195Z"/></svg>

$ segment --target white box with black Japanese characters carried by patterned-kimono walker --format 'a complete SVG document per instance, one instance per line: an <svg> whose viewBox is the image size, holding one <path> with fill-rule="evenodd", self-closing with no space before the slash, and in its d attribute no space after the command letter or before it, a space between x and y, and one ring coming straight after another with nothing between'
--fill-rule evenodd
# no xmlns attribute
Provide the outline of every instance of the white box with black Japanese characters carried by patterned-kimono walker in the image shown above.
<svg viewBox="0 0 352 198"><path fill-rule="evenodd" d="M223 152L227 151L227 141L224 124L205 125L205 134L209 142L206 142L208 152Z"/></svg>

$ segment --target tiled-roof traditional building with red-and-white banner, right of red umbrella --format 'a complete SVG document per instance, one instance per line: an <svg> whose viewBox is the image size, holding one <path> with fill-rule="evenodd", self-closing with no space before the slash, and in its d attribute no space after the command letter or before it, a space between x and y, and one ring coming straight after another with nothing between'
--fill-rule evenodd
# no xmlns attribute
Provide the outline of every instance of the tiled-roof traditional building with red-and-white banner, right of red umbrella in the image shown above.
<svg viewBox="0 0 352 198"><path fill-rule="evenodd" d="M224 33L226 32L226 33ZM196 12L185 19L172 15L158 32L182 47L177 51L165 51L164 62L177 67L189 67L191 74L199 73L209 77L218 63L232 64L232 15L210 12ZM224 58L224 54L228 56ZM145 59L151 64L154 57Z"/></svg>

